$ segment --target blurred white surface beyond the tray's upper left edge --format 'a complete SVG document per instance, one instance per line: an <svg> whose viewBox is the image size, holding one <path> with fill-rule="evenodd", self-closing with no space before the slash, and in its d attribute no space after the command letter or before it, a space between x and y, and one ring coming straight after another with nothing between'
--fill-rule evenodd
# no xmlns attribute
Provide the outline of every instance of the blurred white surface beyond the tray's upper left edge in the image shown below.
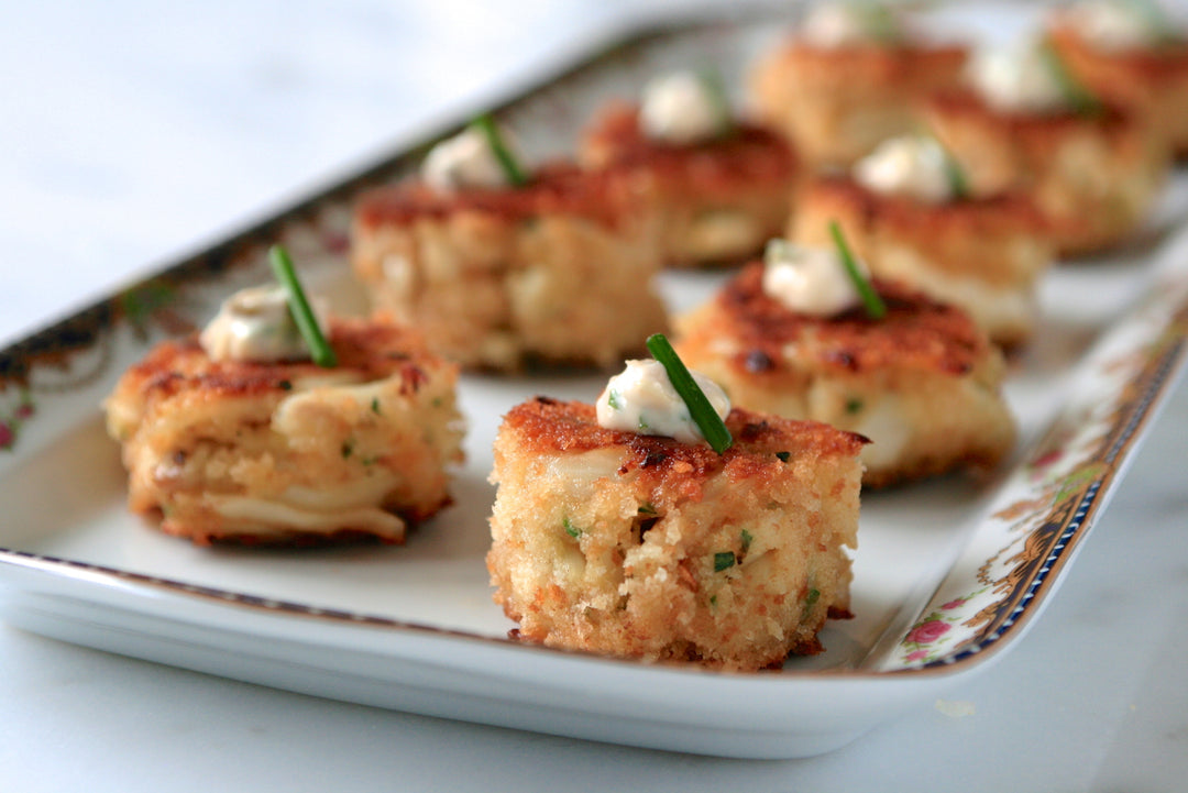
<svg viewBox="0 0 1188 793"><path fill-rule="evenodd" d="M575 47L690 13L510 5L6 4L0 343L511 95Z"/></svg>

